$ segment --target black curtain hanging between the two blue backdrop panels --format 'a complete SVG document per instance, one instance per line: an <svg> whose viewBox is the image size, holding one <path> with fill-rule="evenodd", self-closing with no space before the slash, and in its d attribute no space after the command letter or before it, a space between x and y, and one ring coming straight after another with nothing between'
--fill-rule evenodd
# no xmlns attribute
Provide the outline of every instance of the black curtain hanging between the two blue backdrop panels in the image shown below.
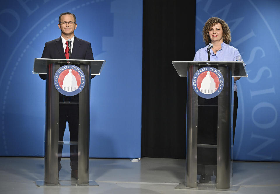
<svg viewBox="0 0 280 194"><path fill-rule="evenodd" d="M185 158L186 77L195 55L195 1L143 0L141 157Z"/></svg>

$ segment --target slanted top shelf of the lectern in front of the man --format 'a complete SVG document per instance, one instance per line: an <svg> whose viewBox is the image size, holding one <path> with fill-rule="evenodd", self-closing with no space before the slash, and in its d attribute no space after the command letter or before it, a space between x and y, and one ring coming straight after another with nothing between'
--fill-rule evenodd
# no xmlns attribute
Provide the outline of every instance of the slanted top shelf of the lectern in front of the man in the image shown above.
<svg viewBox="0 0 280 194"><path fill-rule="evenodd" d="M34 67L33 67L33 74L47 74L47 65L52 63L60 63L62 65L66 64L86 64L90 66L91 75L100 75L105 60L80 60L80 59L43 59L43 58L36 58L34 60Z"/></svg>

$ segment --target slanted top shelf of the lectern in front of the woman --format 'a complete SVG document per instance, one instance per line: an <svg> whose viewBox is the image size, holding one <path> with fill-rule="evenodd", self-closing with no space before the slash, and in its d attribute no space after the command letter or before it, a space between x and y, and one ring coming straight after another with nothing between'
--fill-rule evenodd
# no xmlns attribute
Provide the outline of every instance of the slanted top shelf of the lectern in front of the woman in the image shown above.
<svg viewBox="0 0 280 194"><path fill-rule="evenodd" d="M198 69L200 65L228 66L231 68L232 77L248 77L244 61L172 61L172 64L180 77L186 77L188 68L193 65Z"/></svg>

